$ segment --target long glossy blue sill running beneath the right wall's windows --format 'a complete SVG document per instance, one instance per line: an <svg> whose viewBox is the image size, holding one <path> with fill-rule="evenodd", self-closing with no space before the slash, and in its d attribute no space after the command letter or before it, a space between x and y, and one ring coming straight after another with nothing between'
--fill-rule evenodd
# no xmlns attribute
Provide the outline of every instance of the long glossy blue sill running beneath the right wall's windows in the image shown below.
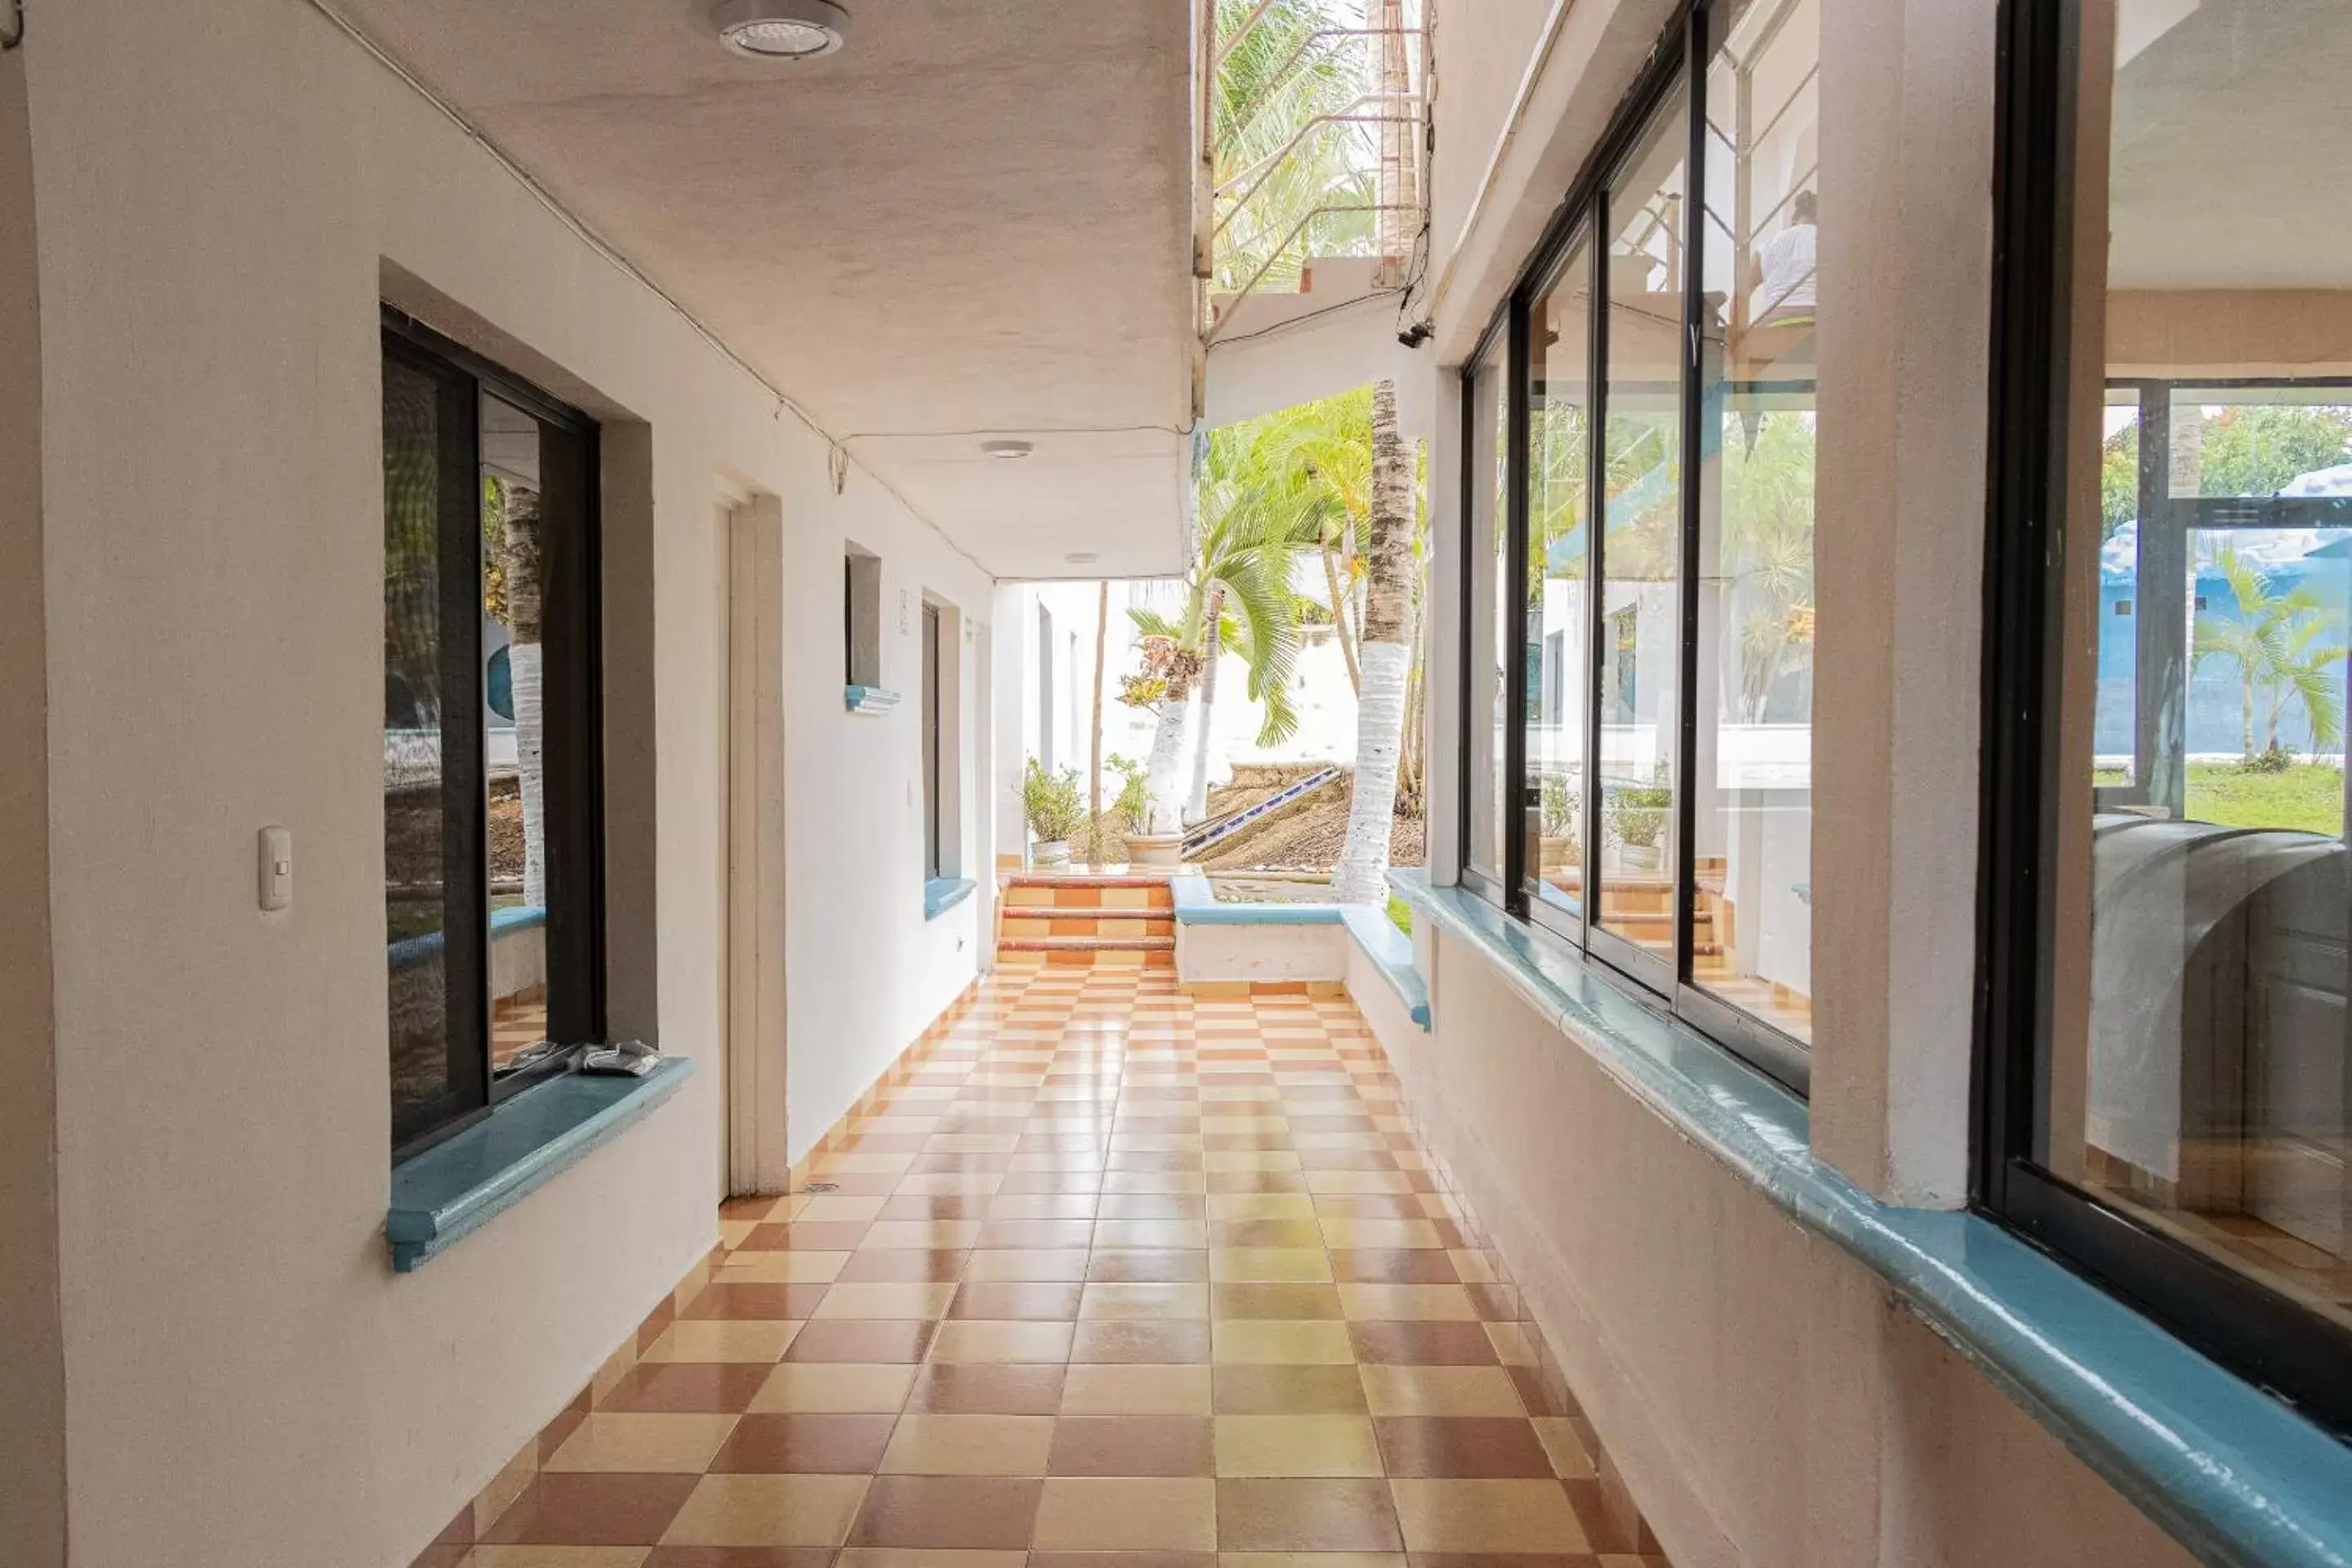
<svg viewBox="0 0 2352 1568"><path fill-rule="evenodd" d="M1390 884L1625 1093L1872 1269L2042 1427L2211 1563L2352 1563L2352 1448L1973 1213L1879 1204L1806 1107L1569 947L1425 872Z"/></svg>

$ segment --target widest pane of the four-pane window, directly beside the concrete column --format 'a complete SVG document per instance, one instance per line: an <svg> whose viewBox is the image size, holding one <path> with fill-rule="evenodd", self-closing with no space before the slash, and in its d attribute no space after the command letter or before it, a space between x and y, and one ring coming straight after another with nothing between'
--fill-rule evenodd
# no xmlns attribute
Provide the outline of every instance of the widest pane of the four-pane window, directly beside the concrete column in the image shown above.
<svg viewBox="0 0 2352 1568"><path fill-rule="evenodd" d="M1818 5L1719 5L1715 38L1689 978L1811 1039Z"/></svg>

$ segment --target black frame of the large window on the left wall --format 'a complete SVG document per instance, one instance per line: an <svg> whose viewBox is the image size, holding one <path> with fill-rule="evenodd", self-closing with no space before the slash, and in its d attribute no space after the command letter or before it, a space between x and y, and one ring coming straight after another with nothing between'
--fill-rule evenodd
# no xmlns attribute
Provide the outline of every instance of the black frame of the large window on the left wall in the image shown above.
<svg viewBox="0 0 2352 1568"><path fill-rule="evenodd" d="M569 1070L567 1053L496 1074L489 1039L489 797L485 766L487 691L482 665L482 454L480 407L496 397L541 428L541 494L553 517L574 520L543 538L541 639L546 712L546 969L548 1039L607 1039L604 1001L604 635L602 635L602 463L600 430L576 407L485 360L463 343L381 306L381 355L428 376L442 400L440 548L470 559L442 578L442 802L456 853L445 858L449 969L449 1093L393 1107L393 1164L473 1126L513 1095ZM553 456L548 449L555 449ZM466 675L459 677L456 672ZM449 745L456 736L459 745ZM470 919L461 919L470 917ZM466 1006L477 1001L477 1006Z"/></svg>

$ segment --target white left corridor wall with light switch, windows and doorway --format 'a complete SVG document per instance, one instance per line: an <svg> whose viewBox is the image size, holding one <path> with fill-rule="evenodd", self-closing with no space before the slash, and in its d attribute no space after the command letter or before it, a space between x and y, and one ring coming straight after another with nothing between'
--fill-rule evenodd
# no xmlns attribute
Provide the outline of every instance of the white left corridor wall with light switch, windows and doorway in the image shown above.
<svg viewBox="0 0 2352 1568"><path fill-rule="evenodd" d="M795 1140L955 994L981 919L922 924L913 715L842 712L840 538L894 609L985 616L988 583L861 473L835 496L823 442L299 0L49 7L12 59L75 1563L400 1568L715 1239L717 475L790 536ZM708 1067L409 1276L381 1239L383 277L604 421L614 1016ZM294 832L282 914L252 903L263 823Z"/></svg>

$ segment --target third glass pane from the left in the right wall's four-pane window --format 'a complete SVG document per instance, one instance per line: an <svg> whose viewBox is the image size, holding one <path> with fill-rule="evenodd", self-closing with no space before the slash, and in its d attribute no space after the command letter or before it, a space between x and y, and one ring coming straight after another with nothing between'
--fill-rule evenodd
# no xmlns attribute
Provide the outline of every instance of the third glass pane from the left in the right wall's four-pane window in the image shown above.
<svg viewBox="0 0 2352 1568"><path fill-rule="evenodd" d="M1682 656L1684 101L1609 186L1609 388L1599 604L1599 929L1675 950Z"/></svg>

